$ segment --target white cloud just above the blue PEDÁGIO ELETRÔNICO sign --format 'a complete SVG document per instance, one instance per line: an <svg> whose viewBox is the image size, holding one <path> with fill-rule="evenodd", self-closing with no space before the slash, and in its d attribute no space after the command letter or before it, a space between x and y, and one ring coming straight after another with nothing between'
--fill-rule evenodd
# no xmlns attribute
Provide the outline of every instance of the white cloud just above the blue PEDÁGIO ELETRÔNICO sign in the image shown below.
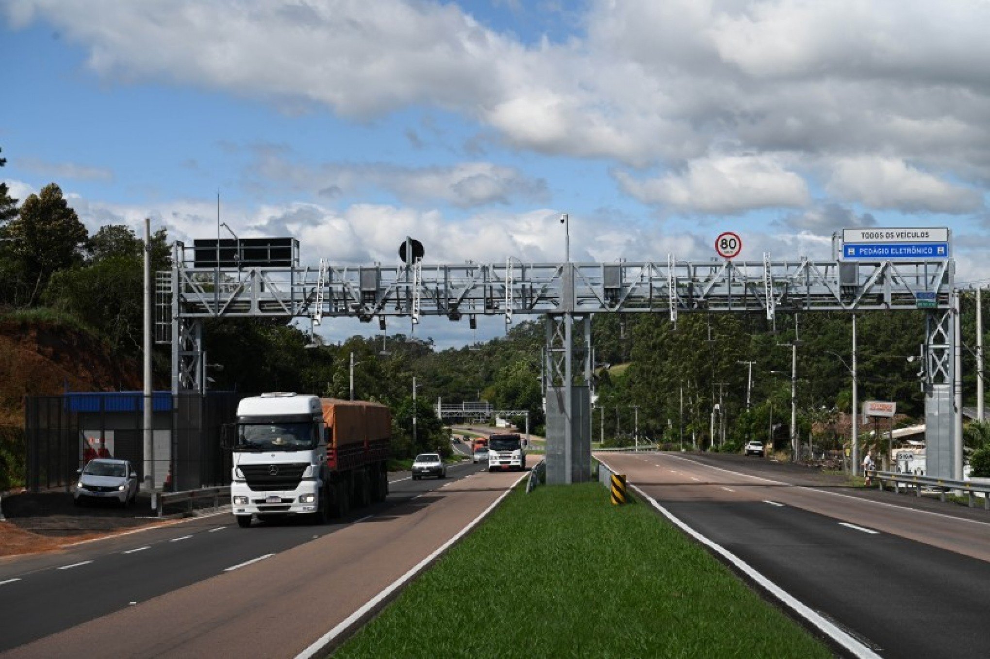
<svg viewBox="0 0 990 659"><path fill-rule="evenodd" d="M983 206L976 190L954 185L895 158L845 158L836 162L829 192L874 209L969 213Z"/></svg>

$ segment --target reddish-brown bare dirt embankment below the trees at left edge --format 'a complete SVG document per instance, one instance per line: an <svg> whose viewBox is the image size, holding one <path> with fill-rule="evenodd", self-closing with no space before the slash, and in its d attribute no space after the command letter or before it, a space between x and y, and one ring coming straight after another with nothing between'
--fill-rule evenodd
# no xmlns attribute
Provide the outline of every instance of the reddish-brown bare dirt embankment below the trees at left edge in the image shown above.
<svg viewBox="0 0 990 659"><path fill-rule="evenodd" d="M141 388L141 362L86 332L0 320L0 425L24 424L25 396Z"/></svg>

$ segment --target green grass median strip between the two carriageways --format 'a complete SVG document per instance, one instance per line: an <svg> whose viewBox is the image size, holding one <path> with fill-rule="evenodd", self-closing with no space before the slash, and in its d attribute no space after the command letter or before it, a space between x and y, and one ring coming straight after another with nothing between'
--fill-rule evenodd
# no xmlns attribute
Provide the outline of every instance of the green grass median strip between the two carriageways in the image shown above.
<svg viewBox="0 0 990 659"><path fill-rule="evenodd" d="M335 657L829 657L725 566L597 483L517 489Z"/></svg>

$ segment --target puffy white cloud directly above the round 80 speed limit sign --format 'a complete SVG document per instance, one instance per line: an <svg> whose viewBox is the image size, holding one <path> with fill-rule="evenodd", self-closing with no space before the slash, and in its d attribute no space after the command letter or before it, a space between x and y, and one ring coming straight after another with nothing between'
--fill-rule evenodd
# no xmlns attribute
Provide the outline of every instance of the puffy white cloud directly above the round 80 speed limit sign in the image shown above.
<svg viewBox="0 0 990 659"><path fill-rule="evenodd" d="M736 214L764 207L801 207L809 201L804 180L764 156L693 160L685 171L646 181L621 171L616 178L644 204L683 211Z"/></svg>

